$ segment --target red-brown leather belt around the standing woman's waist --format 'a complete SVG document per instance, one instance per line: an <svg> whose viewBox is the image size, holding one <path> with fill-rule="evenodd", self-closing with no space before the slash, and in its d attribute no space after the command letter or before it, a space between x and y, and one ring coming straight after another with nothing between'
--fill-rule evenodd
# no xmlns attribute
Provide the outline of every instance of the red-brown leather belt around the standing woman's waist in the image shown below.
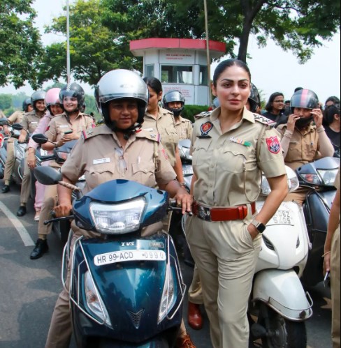
<svg viewBox="0 0 341 348"><path fill-rule="evenodd" d="M256 212L256 204L250 204L252 214ZM210 208L198 202L193 202L192 212L205 221L230 221L243 220L247 217L247 205L233 206L229 208Z"/></svg>

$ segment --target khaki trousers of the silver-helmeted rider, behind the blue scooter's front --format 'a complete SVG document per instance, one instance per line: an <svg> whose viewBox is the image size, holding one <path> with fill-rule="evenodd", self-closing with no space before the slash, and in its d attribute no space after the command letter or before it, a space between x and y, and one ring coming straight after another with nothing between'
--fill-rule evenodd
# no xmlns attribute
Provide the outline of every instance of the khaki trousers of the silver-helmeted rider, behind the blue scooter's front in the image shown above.
<svg viewBox="0 0 341 348"><path fill-rule="evenodd" d="M71 240L70 259L72 259L75 240L78 239L82 234L85 235L85 238L98 238L98 234L94 234L92 232L85 232L84 230L75 227L74 222L72 222L72 226L73 230L75 230L76 232L75 234L73 234L73 238ZM82 233L82 231L84 233ZM67 348L70 344L72 335L72 323L68 296L69 283L70 265L68 264L68 271L66 275L65 284L66 289L63 289L58 296L57 303L55 305L55 310L52 314L50 329L48 331L48 338L46 340L45 348ZM186 333L187 331L184 326L184 321L182 320L178 337L182 337L186 335Z"/></svg>

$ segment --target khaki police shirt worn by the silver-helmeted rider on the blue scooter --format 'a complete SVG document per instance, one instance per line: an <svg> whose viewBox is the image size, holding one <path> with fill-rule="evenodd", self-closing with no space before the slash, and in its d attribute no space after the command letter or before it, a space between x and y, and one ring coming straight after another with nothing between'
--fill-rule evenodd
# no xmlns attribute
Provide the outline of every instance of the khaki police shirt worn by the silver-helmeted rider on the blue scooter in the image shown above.
<svg viewBox="0 0 341 348"><path fill-rule="evenodd" d="M163 146L153 133L145 130L133 133L122 149L117 135L106 125L87 130L61 167L61 173L73 183L85 174L84 193L114 179L155 187L176 178Z"/></svg>

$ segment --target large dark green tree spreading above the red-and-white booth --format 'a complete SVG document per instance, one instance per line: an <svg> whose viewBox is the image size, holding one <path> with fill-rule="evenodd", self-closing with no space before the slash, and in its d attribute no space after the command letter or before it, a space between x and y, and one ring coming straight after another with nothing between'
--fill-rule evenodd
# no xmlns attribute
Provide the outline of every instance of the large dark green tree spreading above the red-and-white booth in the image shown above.
<svg viewBox="0 0 341 348"><path fill-rule="evenodd" d="M127 42L136 38L205 38L203 1L102 0L104 20L121 32ZM246 61L249 35L259 46L273 39L291 50L301 63L312 56L321 40L340 29L338 0L207 0L211 40L226 42L231 56L238 45L238 59Z"/></svg>

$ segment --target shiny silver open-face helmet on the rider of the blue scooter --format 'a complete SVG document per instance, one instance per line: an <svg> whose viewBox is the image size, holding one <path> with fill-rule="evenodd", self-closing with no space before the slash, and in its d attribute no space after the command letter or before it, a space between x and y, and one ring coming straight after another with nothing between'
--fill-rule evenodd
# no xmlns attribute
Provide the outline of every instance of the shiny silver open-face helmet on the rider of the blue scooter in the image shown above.
<svg viewBox="0 0 341 348"><path fill-rule="evenodd" d="M112 128L108 112L108 102L111 100L133 98L138 101L138 125L143 123L143 118L148 105L147 84L137 73L131 70L111 70L101 77L95 89L97 109L102 114L104 122Z"/></svg>

